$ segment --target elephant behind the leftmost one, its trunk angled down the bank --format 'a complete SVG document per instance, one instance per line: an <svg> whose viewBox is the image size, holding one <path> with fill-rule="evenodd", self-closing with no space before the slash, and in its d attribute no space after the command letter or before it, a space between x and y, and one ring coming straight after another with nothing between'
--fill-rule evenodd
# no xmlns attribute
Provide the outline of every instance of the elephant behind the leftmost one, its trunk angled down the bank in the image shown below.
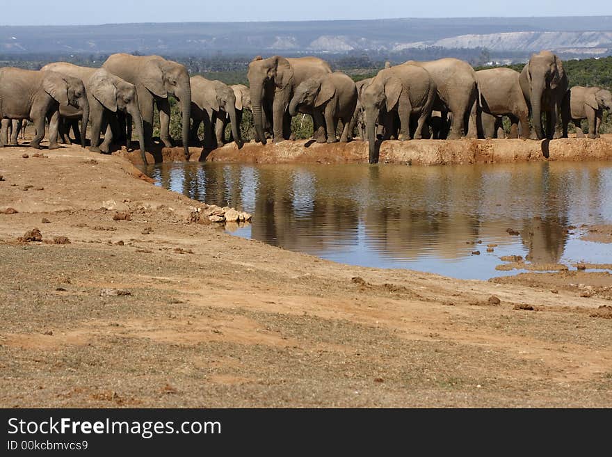
<svg viewBox="0 0 612 457"><path fill-rule="evenodd" d="M140 110L138 109L138 95L136 93L136 87L134 87L134 84L124 81L120 77L117 77L107 70L104 70L104 68L80 67L79 65L73 65L72 63L67 62L49 63L42 68L43 70L53 70L62 74L67 74L83 81L83 84L87 90L90 110L90 151L108 153L110 150L111 141L113 140L111 124L115 125L115 131L117 131L116 126L118 126L118 124L115 113L117 113L119 110L129 114L134 120L134 125L136 125L136 134L138 134L138 141L140 142L140 155L143 159L143 163L147 165L143 120L140 117ZM77 120L80 113L78 110L67 106L60 107L60 115L70 123L71 121L74 122ZM106 130L106 133L104 134L104 142L101 145L98 145L100 131L102 130L103 126ZM74 130L75 137L77 137L77 131L78 130Z"/></svg>

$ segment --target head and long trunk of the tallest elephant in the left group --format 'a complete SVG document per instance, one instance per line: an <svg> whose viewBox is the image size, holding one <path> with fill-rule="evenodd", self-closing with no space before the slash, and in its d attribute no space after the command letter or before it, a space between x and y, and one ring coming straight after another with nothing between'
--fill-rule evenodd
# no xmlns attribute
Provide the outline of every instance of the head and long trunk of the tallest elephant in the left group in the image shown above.
<svg viewBox="0 0 612 457"><path fill-rule="evenodd" d="M143 86L157 97L174 95L181 105L182 138L185 157L189 157L189 120L191 118L191 83L185 65L156 58L147 64L141 74Z"/></svg>

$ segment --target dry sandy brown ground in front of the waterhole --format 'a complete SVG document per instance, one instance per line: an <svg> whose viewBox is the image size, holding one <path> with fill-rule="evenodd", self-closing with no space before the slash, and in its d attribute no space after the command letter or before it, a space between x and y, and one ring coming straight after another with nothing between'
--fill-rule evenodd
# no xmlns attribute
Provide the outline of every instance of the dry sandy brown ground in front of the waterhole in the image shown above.
<svg viewBox="0 0 612 457"><path fill-rule="evenodd" d="M335 264L190 223L122 157L35 152L0 150L0 406L612 406L607 273Z"/></svg>

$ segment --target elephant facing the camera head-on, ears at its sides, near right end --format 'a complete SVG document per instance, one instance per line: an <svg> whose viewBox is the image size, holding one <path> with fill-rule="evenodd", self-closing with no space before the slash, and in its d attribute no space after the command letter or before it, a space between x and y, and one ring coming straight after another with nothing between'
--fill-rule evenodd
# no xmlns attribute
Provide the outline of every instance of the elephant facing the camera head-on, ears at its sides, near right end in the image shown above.
<svg viewBox="0 0 612 457"><path fill-rule="evenodd" d="M531 113L531 138L561 138L557 119L568 88L561 59L551 51L532 54L523 67L519 81ZM546 113L546 131L542 130L542 113Z"/></svg>

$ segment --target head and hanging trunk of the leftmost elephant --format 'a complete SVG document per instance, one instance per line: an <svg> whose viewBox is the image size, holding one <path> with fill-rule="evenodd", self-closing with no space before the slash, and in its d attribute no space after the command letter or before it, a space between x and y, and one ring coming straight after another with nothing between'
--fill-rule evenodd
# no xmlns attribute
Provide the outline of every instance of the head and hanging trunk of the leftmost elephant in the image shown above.
<svg viewBox="0 0 612 457"><path fill-rule="evenodd" d="M49 71L42 81L45 92L63 106L73 106L82 112L81 146L85 147L87 122L89 121L89 102L83 81L79 78Z"/></svg>

